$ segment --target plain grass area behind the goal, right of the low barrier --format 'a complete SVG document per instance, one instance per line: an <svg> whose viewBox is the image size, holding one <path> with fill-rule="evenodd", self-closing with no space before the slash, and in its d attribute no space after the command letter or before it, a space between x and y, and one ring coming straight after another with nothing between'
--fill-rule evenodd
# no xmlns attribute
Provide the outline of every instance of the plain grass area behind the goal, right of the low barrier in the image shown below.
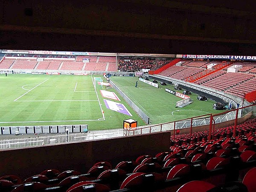
<svg viewBox="0 0 256 192"><path fill-rule="evenodd" d="M220 113L220 111L212 109L212 104L215 101L198 101L198 95L195 93L190 95L191 99L194 100L192 104L184 108L175 108L176 102L182 99L165 91L165 88L174 90L174 86L170 84L167 84L167 86L159 85L159 88L156 88L139 81L137 77L113 76L111 80L149 116L152 124L171 122L209 113ZM135 87L136 81L138 81L137 88ZM183 90L179 92L182 93Z"/></svg>

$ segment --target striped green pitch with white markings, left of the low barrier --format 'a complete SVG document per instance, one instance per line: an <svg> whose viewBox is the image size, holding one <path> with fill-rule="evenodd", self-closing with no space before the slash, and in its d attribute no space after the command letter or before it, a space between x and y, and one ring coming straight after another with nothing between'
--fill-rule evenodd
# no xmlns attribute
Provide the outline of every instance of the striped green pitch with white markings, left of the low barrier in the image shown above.
<svg viewBox="0 0 256 192"><path fill-rule="evenodd" d="M117 94L132 116L107 109L102 86L96 84L95 91L91 76L9 74L0 75L0 84L0 126L85 124L100 130L122 128L123 120L130 118L145 125L114 89L109 91Z"/></svg>

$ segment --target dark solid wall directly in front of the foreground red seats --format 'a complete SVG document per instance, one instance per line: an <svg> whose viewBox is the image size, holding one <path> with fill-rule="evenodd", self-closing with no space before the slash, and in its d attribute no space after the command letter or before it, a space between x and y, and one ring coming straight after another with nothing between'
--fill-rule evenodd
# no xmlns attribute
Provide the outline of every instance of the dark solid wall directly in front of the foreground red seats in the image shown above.
<svg viewBox="0 0 256 192"><path fill-rule="evenodd" d="M87 171L105 160L113 168L123 160L136 160L143 154L169 151L170 132L119 137L33 148L0 151L0 176L18 175L27 178L45 169Z"/></svg>

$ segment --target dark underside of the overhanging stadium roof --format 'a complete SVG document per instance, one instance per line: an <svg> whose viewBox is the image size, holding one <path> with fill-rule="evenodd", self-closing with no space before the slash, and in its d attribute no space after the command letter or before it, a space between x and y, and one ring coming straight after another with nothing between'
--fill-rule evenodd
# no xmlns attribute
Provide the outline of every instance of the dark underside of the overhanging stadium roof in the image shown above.
<svg viewBox="0 0 256 192"><path fill-rule="evenodd" d="M252 0L2 2L1 49L214 55L256 50Z"/></svg>

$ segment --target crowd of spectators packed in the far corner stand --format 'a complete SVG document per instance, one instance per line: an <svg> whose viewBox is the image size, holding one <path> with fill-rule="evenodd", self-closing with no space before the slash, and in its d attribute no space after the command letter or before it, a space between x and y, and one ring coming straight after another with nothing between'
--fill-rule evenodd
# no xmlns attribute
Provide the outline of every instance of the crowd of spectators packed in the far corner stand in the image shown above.
<svg viewBox="0 0 256 192"><path fill-rule="evenodd" d="M157 70L169 62L170 60L156 58L121 58L118 70L125 72L136 72L141 69Z"/></svg>

